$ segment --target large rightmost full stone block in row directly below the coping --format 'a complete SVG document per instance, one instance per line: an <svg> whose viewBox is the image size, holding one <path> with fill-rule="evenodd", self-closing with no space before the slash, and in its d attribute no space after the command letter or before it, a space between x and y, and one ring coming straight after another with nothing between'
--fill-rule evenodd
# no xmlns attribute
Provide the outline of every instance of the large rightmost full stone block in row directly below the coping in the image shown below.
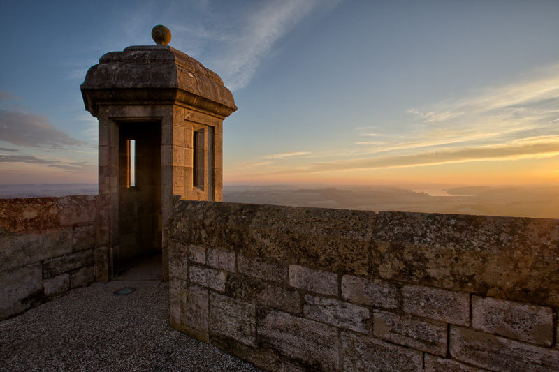
<svg viewBox="0 0 559 372"><path fill-rule="evenodd" d="M472 327L542 346L553 343L553 311L545 306L474 296Z"/></svg>

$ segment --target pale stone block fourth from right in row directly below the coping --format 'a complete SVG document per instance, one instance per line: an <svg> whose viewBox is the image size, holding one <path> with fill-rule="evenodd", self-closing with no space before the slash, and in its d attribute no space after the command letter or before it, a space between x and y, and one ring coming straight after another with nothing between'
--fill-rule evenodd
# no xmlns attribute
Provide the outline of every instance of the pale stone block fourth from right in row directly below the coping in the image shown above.
<svg viewBox="0 0 559 372"><path fill-rule="evenodd" d="M289 265L289 285L302 290L337 295L337 274L311 269L299 265Z"/></svg>

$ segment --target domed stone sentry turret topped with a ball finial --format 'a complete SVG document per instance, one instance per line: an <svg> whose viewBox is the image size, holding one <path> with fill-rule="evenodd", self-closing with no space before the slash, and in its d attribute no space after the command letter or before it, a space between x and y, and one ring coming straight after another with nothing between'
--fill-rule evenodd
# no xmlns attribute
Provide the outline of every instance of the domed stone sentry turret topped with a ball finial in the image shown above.
<svg viewBox="0 0 559 372"><path fill-rule="evenodd" d="M87 71L85 109L99 119L99 205L96 280L109 281L119 262L163 251L174 196L222 200L222 124L237 110L221 78L166 44L110 52Z"/></svg>

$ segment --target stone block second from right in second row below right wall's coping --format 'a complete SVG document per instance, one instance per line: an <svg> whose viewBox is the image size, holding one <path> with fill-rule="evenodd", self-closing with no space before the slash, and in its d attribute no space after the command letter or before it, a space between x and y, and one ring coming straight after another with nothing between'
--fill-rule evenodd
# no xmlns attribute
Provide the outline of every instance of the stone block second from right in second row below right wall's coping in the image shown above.
<svg viewBox="0 0 559 372"><path fill-rule="evenodd" d="M392 343L443 357L447 355L447 324L443 322L374 311L372 332Z"/></svg>

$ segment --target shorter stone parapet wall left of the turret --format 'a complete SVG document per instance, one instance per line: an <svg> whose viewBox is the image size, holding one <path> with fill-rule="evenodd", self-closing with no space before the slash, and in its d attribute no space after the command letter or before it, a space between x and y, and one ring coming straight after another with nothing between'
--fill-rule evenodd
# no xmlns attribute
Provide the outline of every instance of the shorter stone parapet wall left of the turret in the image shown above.
<svg viewBox="0 0 559 372"><path fill-rule="evenodd" d="M94 281L96 197L0 199L0 320Z"/></svg>

